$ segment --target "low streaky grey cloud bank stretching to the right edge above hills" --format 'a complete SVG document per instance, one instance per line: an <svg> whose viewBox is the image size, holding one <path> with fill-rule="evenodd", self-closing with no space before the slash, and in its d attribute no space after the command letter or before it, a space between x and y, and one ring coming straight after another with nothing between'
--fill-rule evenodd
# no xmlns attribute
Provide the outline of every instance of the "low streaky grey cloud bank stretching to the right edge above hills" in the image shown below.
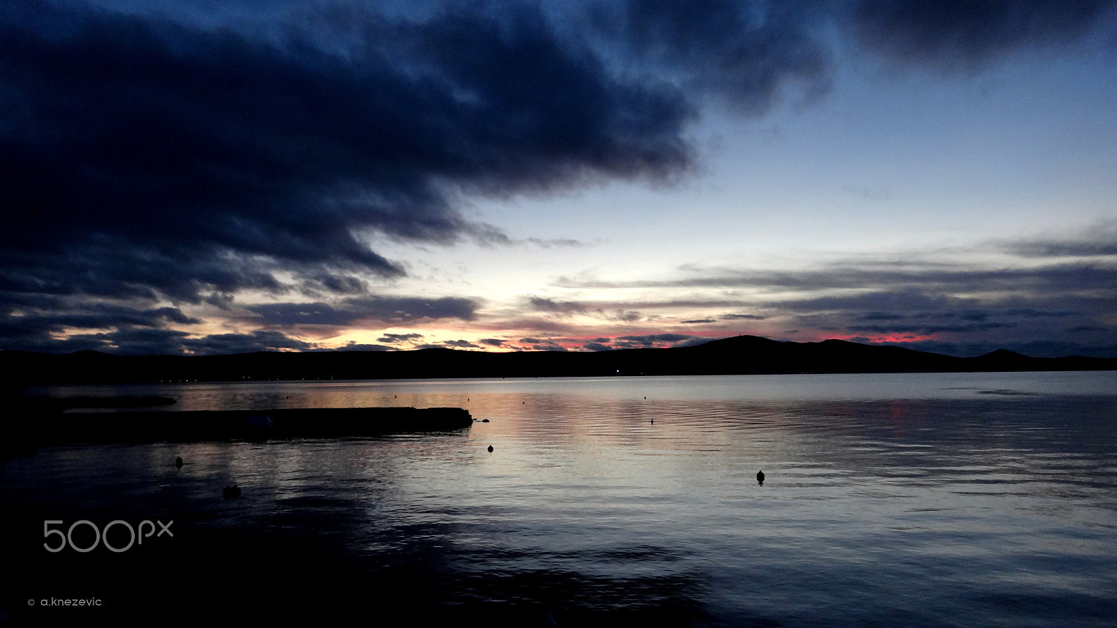
<svg viewBox="0 0 1117 628"><path fill-rule="evenodd" d="M995 248L1008 250L1012 246L1002 242ZM985 245L975 248L982 254L987 250ZM742 299L741 305L764 312L764 316L727 315L722 320L786 320L799 330L841 337L869 339L872 334L876 342L905 346L937 342L942 343L935 345L939 351L960 355L976 354L976 349L989 346L990 351L1024 348L1040 337L1056 344L1046 349L1027 344L1032 354L1051 355L1059 346L1073 346L1077 353L1102 355L1111 353L1117 342L1117 330L1105 324L1117 315L1117 265L1110 260L1091 255L1073 261L1052 258L1029 266L987 268L948 260L923 264L919 258L846 261L800 272L688 265L679 268L682 278L565 284L641 291L741 289L753 295L751 303ZM636 336L618 340L630 346L647 343ZM1048 353L1037 353L1041 349Z"/></svg>

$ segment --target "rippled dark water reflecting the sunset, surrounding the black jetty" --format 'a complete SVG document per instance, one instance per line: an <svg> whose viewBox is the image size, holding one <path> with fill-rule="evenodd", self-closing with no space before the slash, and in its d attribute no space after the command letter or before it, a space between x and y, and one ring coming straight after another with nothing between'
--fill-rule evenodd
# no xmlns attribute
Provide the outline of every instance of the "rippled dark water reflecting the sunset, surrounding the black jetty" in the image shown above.
<svg viewBox="0 0 1117 628"><path fill-rule="evenodd" d="M1117 373L38 392L490 422L8 460L12 622L1117 626Z"/></svg>

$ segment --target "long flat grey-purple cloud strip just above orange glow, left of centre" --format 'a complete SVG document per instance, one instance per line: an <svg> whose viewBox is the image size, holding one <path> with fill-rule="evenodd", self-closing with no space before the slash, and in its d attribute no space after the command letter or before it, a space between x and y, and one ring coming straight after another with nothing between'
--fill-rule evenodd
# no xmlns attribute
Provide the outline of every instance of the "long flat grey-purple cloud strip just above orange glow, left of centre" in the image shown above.
<svg viewBox="0 0 1117 628"><path fill-rule="evenodd" d="M266 325L345 326L357 321L404 323L420 318L471 321L478 302L461 297L421 298L399 296L350 297L327 303L273 303L248 306ZM383 341L382 341L383 342Z"/></svg>

